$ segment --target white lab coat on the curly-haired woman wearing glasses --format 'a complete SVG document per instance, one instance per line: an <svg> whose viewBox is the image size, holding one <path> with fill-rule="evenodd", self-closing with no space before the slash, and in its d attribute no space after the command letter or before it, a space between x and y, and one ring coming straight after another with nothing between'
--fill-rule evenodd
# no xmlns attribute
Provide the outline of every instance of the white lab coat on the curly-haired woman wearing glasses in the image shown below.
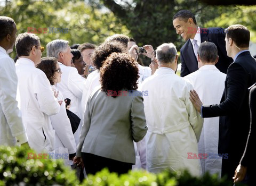
<svg viewBox="0 0 256 186"><path fill-rule="evenodd" d="M52 85L52 88L58 89ZM76 153L76 142L72 132L71 124L67 116L65 100L59 91L58 102L63 100L60 106L60 112L50 116L53 129L55 130L55 153L74 154ZM69 160L64 159L65 164L69 165Z"/></svg>

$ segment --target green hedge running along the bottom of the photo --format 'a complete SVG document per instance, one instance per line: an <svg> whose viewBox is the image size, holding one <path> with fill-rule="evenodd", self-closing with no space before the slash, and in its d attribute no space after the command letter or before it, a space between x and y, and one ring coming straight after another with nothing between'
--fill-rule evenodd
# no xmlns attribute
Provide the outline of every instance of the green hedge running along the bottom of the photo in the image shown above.
<svg viewBox="0 0 256 186"><path fill-rule="evenodd" d="M83 183L79 183L75 172L63 165L61 160L28 159L28 153L31 152L31 149L25 147L0 147L0 185L233 185L227 179L218 179L217 175L205 174L198 178L187 171L166 171L161 174L133 171L118 176L116 173L109 173L107 169L89 175Z"/></svg>

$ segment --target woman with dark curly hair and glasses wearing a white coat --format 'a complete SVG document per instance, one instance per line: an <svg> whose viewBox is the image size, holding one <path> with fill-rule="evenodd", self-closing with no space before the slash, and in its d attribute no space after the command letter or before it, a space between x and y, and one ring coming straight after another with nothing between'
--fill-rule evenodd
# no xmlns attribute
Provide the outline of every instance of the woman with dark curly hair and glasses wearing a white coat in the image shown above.
<svg viewBox="0 0 256 186"><path fill-rule="evenodd" d="M67 116L64 98L61 92L56 88L57 83L61 81L62 74L59 63L55 57L43 57L41 59L41 63L36 67L45 73L55 92L59 92L57 99L59 103L62 101L62 104L60 105L60 112L56 115L50 116L52 126L55 130L55 153L65 154L65 164L70 165L69 159L73 159L76 155L76 143L71 129L71 124ZM69 159L66 158L67 155Z"/></svg>

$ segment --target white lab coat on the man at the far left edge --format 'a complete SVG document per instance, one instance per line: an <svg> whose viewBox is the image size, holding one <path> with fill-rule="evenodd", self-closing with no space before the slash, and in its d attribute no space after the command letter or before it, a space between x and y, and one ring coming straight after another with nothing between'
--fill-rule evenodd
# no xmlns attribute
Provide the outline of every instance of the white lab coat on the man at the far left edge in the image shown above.
<svg viewBox="0 0 256 186"><path fill-rule="evenodd" d="M17 84L14 61L0 47L0 145L20 145L28 140L16 100Z"/></svg>

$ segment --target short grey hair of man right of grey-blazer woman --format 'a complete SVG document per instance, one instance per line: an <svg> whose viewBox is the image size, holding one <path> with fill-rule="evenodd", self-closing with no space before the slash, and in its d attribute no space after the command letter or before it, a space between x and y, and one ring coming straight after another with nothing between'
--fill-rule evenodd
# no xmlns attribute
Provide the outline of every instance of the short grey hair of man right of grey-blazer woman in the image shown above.
<svg viewBox="0 0 256 186"><path fill-rule="evenodd" d="M159 63L173 63L177 54L173 43L164 43L156 49L156 58Z"/></svg>

